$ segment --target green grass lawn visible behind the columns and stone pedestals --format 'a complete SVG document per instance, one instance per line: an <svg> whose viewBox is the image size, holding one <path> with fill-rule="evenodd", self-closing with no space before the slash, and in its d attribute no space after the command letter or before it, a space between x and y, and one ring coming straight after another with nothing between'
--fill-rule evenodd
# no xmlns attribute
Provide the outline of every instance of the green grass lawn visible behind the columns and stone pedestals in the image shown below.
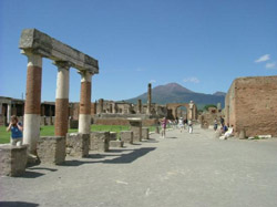
<svg viewBox="0 0 277 207"><path fill-rule="evenodd" d="M155 126L150 126L150 132L155 131ZM121 131L129 131L130 126L122 126L122 125L91 125L92 132L116 132L120 133ZM69 130L69 133L78 132L78 130ZM0 144L9 143L10 142L10 132L6 131L6 126L0 126ZM54 126L41 126L40 128L41 136L54 136Z"/></svg>

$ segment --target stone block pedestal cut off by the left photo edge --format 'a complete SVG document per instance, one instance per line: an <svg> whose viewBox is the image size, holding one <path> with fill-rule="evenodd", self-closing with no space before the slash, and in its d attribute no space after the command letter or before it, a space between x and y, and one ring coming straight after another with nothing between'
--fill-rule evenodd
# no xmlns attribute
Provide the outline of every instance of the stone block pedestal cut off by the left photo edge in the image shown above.
<svg viewBox="0 0 277 207"><path fill-rule="evenodd" d="M27 147L28 145L0 145L0 176L16 177L24 174L27 164Z"/></svg>

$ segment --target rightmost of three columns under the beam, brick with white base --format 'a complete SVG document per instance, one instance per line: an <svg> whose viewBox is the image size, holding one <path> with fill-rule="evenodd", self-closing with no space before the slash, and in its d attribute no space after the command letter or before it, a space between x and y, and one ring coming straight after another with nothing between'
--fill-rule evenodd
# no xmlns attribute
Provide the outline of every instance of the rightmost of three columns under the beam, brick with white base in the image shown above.
<svg viewBox="0 0 277 207"><path fill-rule="evenodd" d="M81 97L79 114L79 133L90 134L91 132L91 76L90 72L80 72Z"/></svg>

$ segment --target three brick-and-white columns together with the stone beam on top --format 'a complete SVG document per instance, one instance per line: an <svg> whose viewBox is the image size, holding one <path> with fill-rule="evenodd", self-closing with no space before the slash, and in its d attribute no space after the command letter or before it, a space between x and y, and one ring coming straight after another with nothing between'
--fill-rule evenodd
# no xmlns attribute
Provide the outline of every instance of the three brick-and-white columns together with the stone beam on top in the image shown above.
<svg viewBox="0 0 277 207"><path fill-rule="evenodd" d="M37 29L21 33L19 48L28 58L24 104L23 143L35 152L40 136L42 59L51 59L58 68L55 93L55 135L65 136L69 116L69 70L75 68L81 75L79 132L89 134L91 125L91 77L99 73L98 61Z"/></svg>

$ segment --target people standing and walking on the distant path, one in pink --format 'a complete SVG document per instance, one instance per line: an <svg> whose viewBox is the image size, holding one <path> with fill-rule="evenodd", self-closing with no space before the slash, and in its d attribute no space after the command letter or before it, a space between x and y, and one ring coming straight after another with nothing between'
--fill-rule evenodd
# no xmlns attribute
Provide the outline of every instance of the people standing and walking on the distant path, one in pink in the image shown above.
<svg viewBox="0 0 277 207"><path fill-rule="evenodd" d="M166 117L163 117L163 120L161 121L161 127L162 127L162 137L165 138L165 132L166 132L166 127L167 124L174 124L177 128L179 128L179 132L182 133L186 126L188 127L188 133L192 134L193 133L193 122L192 120L187 120L187 118L176 118L175 121L168 121Z"/></svg>

